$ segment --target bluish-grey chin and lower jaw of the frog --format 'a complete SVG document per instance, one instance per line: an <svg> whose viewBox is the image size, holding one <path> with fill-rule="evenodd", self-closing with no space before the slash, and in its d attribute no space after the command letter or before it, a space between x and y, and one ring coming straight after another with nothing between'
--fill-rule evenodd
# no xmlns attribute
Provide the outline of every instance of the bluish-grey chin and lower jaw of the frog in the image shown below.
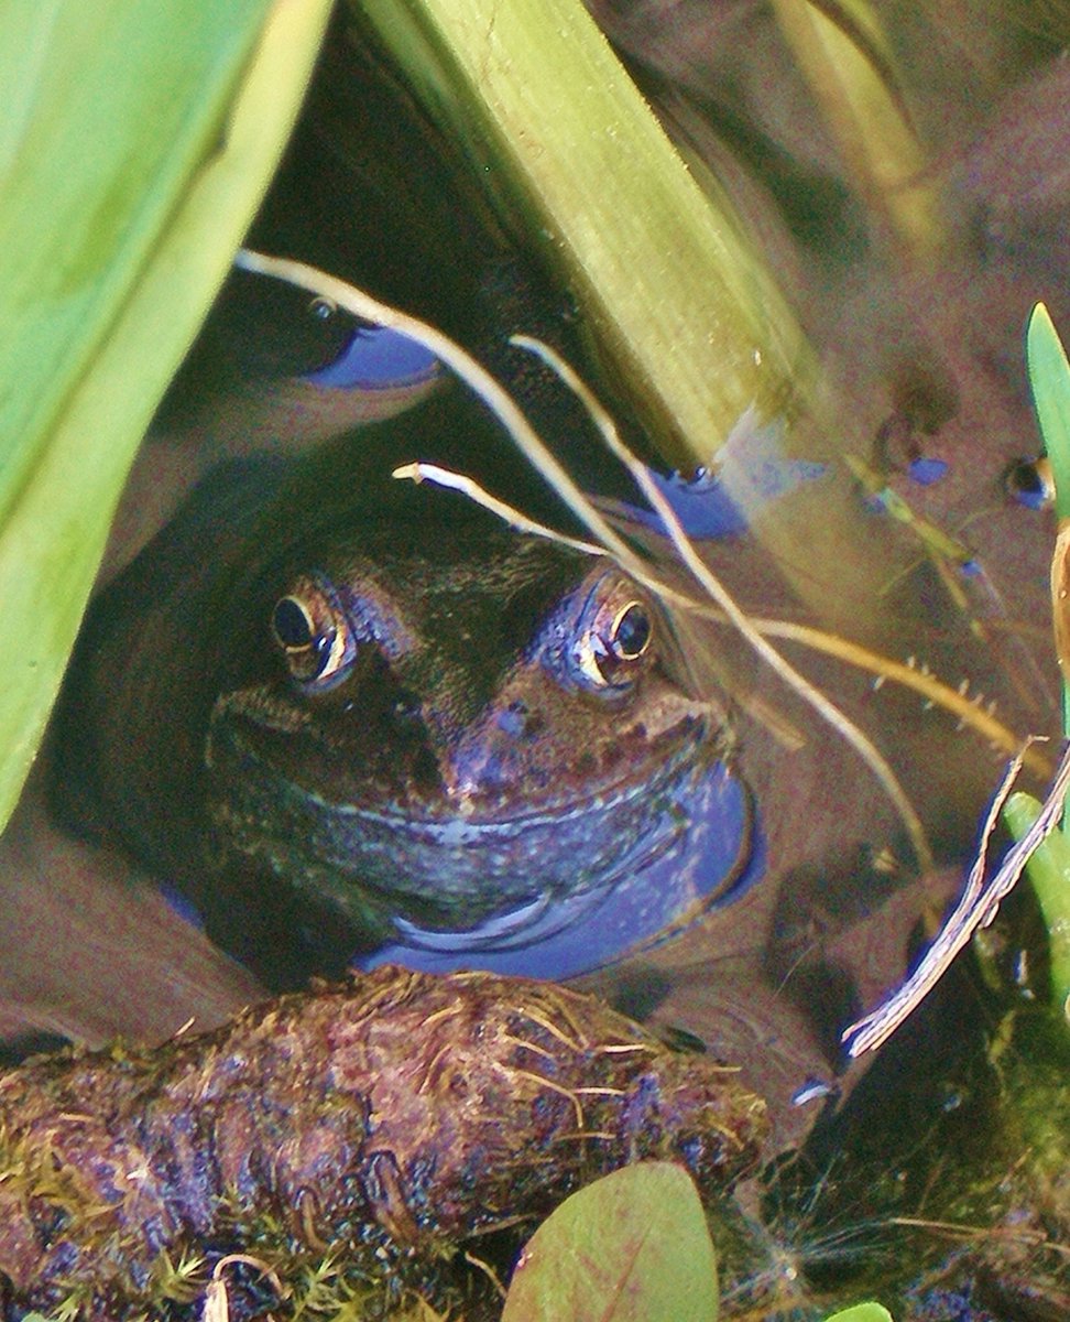
<svg viewBox="0 0 1070 1322"><path fill-rule="evenodd" d="M219 722L210 810L227 847L283 884L328 899L355 927L371 915L382 932L410 944L462 952L487 932L507 944L544 932L653 859L687 853L711 783L734 780L713 744L694 720L651 765L568 805L413 816L400 805L328 801L280 776L239 723ZM736 855L749 849L749 814L736 817L725 846L731 865L716 865L721 873L734 871ZM548 908L557 916L547 919Z"/></svg>

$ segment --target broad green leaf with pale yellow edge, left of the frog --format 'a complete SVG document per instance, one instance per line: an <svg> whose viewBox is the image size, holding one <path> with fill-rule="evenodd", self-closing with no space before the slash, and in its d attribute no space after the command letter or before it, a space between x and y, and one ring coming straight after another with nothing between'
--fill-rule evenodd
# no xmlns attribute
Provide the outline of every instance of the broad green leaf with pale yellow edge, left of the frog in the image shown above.
<svg viewBox="0 0 1070 1322"><path fill-rule="evenodd" d="M329 8L0 8L0 824L139 439L271 178Z"/></svg>

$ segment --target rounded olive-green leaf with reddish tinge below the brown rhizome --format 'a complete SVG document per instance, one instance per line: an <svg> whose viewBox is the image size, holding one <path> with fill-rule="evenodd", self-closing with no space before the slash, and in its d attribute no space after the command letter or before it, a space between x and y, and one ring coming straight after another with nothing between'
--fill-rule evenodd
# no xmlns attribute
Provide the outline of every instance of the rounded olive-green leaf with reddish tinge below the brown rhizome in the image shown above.
<svg viewBox="0 0 1070 1322"><path fill-rule="evenodd" d="M642 1162L581 1188L528 1240L502 1322L716 1322L717 1265L691 1178Z"/></svg>

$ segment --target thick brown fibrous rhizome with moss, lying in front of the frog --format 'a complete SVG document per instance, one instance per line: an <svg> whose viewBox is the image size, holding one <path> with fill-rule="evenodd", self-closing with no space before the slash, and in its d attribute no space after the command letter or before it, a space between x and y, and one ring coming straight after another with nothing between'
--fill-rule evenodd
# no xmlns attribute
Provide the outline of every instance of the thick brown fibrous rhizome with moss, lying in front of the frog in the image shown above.
<svg viewBox="0 0 1070 1322"><path fill-rule="evenodd" d="M339 1290L433 1290L472 1236L530 1229L626 1162L724 1190L766 1128L733 1069L594 998L383 968L203 1036L0 1077L5 1315L181 1317L231 1253L287 1282L330 1264Z"/></svg>

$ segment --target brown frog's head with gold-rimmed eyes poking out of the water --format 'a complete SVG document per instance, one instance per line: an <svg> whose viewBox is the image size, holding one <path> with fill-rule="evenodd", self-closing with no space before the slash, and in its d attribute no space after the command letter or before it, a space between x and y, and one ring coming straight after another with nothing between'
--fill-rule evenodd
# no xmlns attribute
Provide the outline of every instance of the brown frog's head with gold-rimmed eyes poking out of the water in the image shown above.
<svg viewBox="0 0 1070 1322"><path fill-rule="evenodd" d="M597 898L686 830L721 743L641 586L482 525L336 538L264 640L276 677L215 703L210 813L384 933L464 948Z"/></svg>

